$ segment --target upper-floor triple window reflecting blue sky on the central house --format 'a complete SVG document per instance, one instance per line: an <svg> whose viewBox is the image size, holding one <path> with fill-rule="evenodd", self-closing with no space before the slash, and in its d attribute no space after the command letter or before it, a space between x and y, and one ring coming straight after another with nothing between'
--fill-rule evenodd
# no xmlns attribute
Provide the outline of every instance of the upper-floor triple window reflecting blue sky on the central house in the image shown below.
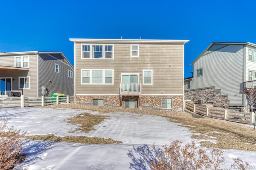
<svg viewBox="0 0 256 170"><path fill-rule="evenodd" d="M82 44L81 59L113 59L114 45Z"/></svg>

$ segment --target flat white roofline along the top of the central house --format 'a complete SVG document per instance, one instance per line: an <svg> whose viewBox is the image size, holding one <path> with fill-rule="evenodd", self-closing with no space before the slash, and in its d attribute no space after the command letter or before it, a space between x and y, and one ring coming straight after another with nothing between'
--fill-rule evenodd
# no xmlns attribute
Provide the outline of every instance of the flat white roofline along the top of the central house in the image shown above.
<svg viewBox="0 0 256 170"><path fill-rule="evenodd" d="M189 40L168 40L168 39L84 39L84 38L70 38L74 43L187 43Z"/></svg>

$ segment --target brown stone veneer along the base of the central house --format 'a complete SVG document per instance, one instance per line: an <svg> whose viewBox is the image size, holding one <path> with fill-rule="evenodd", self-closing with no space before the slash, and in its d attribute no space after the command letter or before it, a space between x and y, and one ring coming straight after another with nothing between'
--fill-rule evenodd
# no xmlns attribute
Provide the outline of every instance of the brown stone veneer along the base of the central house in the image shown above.
<svg viewBox="0 0 256 170"><path fill-rule="evenodd" d="M166 111L182 111L182 96L140 96L141 107L150 109L162 109L162 98L172 98L172 109L163 109ZM136 99L135 106L138 107L138 97L122 96L122 106L124 99ZM92 105L93 99L103 99L103 104L108 106L120 107L120 96L75 96L76 104Z"/></svg>

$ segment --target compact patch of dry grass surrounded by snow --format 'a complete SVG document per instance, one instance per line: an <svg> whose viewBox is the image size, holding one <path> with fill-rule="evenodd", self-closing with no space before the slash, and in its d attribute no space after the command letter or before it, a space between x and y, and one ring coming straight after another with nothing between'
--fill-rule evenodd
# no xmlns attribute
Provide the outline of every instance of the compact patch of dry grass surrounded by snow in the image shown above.
<svg viewBox="0 0 256 170"><path fill-rule="evenodd" d="M92 115L90 113L82 113L75 117L71 117L68 119L68 123L79 124L80 128L78 131L89 132L93 131L94 125L98 125L104 119L108 119L108 117L103 115Z"/></svg>

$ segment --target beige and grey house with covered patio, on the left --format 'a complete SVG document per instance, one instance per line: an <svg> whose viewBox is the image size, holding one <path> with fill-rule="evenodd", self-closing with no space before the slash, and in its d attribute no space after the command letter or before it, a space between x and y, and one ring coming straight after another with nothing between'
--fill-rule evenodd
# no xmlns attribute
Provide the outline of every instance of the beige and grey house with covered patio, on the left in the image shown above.
<svg viewBox="0 0 256 170"><path fill-rule="evenodd" d="M74 67L61 52L0 53L0 95L20 92L25 97L74 95ZM46 94L46 96L47 96Z"/></svg>

